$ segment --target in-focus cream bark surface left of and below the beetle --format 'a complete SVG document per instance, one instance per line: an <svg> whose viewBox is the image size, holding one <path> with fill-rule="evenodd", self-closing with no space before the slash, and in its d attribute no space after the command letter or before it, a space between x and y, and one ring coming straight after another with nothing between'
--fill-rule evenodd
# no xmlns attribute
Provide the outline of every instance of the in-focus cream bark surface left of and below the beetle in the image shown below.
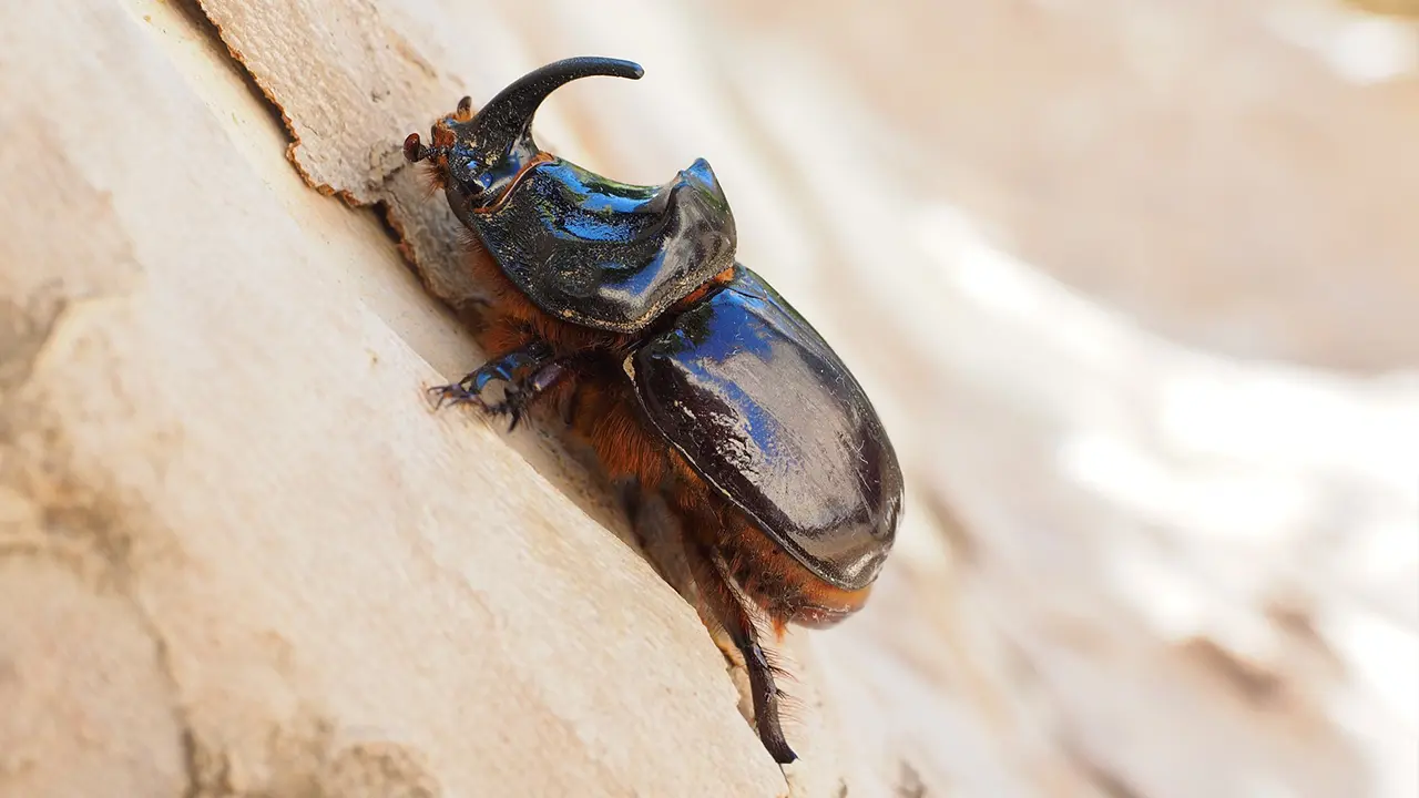
<svg viewBox="0 0 1419 798"><path fill-rule="evenodd" d="M465 338L152 11L0 24L0 792L783 792L695 612L429 412L396 327Z"/></svg>

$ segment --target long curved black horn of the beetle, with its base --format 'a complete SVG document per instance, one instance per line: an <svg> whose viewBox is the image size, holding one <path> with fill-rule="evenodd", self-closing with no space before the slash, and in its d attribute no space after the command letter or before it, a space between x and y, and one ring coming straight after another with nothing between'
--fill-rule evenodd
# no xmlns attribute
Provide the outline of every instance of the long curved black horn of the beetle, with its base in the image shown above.
<svg viewBox="0 0 1419 798"><path fill-rule="evenodd" d="M448 125L457 139L448 158L453 176L481 189L482 203L495 202L501 189L536 158L539 148L532 139L532 118L549 94L578 78L606 75L640 80L644 74L633 61L583 55L553 61L522 75L490 99L473 119Z"/></svg>

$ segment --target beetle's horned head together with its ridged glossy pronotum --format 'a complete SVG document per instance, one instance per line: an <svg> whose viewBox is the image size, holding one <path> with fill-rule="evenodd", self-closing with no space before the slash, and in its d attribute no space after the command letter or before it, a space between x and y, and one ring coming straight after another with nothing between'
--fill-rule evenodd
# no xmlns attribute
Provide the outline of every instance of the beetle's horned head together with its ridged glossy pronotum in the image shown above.
<svg viewBox="0 0 1419 798"><path fill-rule="evenodd" d="M734 214L704 159L661 186L631 186L555 158L532 138L538 106L559 87L641 74L619 58L548 64L474 116L446 118L453 141L438 148L448 206L508 280L543 312L613 332L643 329L734 266Z"/></svg>

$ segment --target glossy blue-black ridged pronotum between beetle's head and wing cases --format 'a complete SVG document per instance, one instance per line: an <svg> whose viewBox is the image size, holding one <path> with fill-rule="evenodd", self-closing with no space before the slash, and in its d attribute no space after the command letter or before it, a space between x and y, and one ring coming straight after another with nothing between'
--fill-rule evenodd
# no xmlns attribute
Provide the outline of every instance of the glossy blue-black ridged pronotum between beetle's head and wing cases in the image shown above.
<svg viewBox="0 0 1419 798"><path fill-rule="evenodd" d="M734 214L704 159L651 187L555 158L460 216L543 312L599 329L636 332L734 266Z"/></svg>

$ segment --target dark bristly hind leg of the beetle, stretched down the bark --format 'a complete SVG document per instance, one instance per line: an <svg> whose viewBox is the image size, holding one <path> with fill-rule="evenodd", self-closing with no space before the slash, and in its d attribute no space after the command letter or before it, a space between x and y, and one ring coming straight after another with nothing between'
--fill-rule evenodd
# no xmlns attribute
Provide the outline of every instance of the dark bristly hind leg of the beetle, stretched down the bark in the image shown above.
<svg viewBox="0 0 1419 798"><path fill-rule="evenodd" d="M724 564L704 545L692 542L688 537L685 538L685 558L690 561L704 609L724 628L729 640L744 655L744 666L749 672L753 723L759 731L759 740L773 761L780 765L797 760L797 754L789 748L788 740L783 738L783 727L779 724L779 690L773 684L769 659L763 656L763 647L759 646L759 630L753 626L753 618L749 616L744 601L731 586Z"/></svg>

